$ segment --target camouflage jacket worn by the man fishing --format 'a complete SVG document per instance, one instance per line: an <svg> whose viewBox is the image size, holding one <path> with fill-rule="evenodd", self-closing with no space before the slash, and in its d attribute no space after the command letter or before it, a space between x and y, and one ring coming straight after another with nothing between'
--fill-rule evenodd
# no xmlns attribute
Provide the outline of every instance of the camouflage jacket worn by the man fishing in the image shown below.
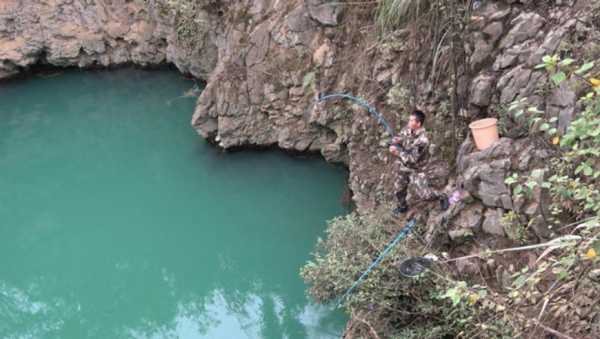
<svg viewBox="0 0 600 339"><path fill-rule="evenodd" d="M429 139L424 128L412 131L410 128L403 128L397 135L400 139L399 170L410 171L420 168L423 169L428 162Z"/></svg>

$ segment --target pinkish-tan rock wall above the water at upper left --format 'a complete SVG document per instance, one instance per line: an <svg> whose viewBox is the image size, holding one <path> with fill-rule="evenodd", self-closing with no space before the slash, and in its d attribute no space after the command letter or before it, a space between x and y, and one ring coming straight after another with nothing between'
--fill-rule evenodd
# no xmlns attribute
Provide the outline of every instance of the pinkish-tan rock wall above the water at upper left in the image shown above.
<svg viewBox="0 0 600 339"><path fill-rule="evenodd" d="M177 41L174 18L158 4L83 0L0 3L0 78L35 64L109 67L167 62L205 78L216 64L207 29L190 50Z"/></svg>

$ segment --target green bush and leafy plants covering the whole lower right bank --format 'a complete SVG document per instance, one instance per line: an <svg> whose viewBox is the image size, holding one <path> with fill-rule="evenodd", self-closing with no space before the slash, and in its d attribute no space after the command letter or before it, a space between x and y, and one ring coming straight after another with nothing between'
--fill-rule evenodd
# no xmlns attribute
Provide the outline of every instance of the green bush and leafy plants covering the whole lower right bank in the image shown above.
<svg viewBox="0 0 600 339"><path fill-rule="evenodd" d="M509 211L503 217L509 238L521 247L474 257L502 260L503 254L518 251L533 255L533 262L514 267L502 278L503 286L477 276L459 277L443 261L417 278L405 278L398 271L403 258L433 252L422 240L425 230L417 228L345 300L352 316L348 332L374 338L600 335L600 80L590 78L594 66L556 56L545 57L539 66L549 73L550 86L568 81L589 89L579 100L581 112L564 132L556 117L526 99L506 108L519 134L537 139L552 154L545 167L514 173L506 183L513 199L538 199L544 206L537 212L541 216ZM330 222L327 239L319 241L313 260L302 269L317 301L341 296L398 233L401 223L385 217L386 211ZM532 236L536 217L550 230L551 240L537 243Z"/></svg>

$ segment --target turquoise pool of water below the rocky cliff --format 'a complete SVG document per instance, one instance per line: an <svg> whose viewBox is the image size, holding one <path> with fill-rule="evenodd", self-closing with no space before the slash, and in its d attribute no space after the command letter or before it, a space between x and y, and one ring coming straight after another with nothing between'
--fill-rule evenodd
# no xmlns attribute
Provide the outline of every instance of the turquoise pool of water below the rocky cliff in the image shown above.
<svg viewBox="0 0 600 339"><path fill-rule="evenodd" d="M223 153L169 71L0 83L0 337L335 338L299 269L342 169Z"/></svg>

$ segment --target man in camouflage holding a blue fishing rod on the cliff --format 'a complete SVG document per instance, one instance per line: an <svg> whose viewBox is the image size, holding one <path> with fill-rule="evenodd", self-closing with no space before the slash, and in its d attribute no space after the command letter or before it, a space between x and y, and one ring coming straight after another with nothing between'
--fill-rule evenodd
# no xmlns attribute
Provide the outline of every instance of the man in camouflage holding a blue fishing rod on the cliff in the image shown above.
<svg viewBox="0 0 600 339"><path fill-rule="evenodd" d="M410 115L406 127L392 138L390 153L398 157L398 160L395 161L396 178L394 181L398 207L394 209L394 215L405 213L408 210L406 194L410 183L415 186L415 190L422 200L439 200L442 210L448 208L446 195L436 192L429 184L425 174L425 167L429 160L429 139L423 128L424 122L425 113L415 110Z"/></svg>

